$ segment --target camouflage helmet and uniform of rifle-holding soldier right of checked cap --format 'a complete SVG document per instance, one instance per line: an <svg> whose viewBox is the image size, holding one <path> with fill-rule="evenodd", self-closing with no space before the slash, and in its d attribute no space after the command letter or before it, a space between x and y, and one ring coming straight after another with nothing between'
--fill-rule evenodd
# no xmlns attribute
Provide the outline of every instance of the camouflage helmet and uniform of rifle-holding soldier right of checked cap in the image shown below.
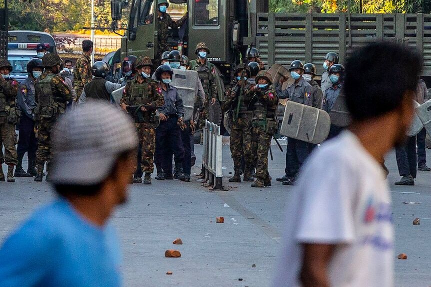
<svg viewBox="0 0 431 287"><path fill-rule="evenodd" d="M149 65L151 63L151 60L148 57L138 57L135 62L136 67L138 67L140 65L139 63L142 61L146 61L145 64ZM128 106L140 106L145 104L154 107L161 107L164 104L164 98L156 81L148 77L144 78L143 82L139 83L137 78L135 78L127 82L123 96L120 100L120 104L122 103L125 103ZM139 143L142 143L142 172L152 173L154 170L153 159L155 152L155 110L141 112L139 109L136 116L134 116L134 121L139 137ZM134 153L134 157L134 170L136 170L137 151Z"/></svg>

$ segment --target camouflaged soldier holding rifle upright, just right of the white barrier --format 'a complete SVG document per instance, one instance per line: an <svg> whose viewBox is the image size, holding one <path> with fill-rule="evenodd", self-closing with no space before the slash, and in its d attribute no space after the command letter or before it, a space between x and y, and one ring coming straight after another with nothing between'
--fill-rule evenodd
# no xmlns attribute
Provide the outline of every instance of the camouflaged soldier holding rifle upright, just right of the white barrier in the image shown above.
<svg viewBox="0 0 431 287"><path fill-rule="evenodd" d="M234 175L229 182L241 182L241 157L244 157L244 181L253 181L251 177L251 118L253 112L248 110L250 89L247 81L250 77L248 69L238 66L235 70L234 82L226 92L226 100L221 109L232 117L230 128L230 153L233 159Z"/></svg>

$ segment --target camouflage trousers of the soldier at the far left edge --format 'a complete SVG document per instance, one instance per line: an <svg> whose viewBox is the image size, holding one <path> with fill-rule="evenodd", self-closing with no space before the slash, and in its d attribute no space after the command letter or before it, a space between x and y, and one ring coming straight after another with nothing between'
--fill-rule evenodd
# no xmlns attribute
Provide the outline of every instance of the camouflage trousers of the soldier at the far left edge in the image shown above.
<svg viewBox="0 0 431 287"><path fill-rule="evenodd" d="M0 164L16 165L18 163L15 145L17 143L15 125L7 122L7 116L0 117ZM4 155L2 148L4 146Z"/></svg>

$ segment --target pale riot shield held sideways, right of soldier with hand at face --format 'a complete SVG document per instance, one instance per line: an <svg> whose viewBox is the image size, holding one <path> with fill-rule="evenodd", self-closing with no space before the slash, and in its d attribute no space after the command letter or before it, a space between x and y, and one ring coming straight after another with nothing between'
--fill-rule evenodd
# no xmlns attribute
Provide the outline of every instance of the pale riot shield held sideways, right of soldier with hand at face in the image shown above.
<svg viewBox="0 0 431 287"><path fill-rule="evenodd" d="M318 144L327 138L329 127L330 118L324 110L287 101L280 134Z"/></svg>

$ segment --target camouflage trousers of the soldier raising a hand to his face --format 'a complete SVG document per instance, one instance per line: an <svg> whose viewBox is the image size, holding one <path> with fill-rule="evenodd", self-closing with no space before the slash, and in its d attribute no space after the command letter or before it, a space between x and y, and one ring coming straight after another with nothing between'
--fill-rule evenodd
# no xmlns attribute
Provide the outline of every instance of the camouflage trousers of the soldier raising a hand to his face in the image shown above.
<svg viewBox="0 0 431 287"><path fill-rule="evenodd" d="M264 126L251 128L251 153L255 158L256 177L265 180L268 173L268 150L272 135L266 133Z"/></svg>

